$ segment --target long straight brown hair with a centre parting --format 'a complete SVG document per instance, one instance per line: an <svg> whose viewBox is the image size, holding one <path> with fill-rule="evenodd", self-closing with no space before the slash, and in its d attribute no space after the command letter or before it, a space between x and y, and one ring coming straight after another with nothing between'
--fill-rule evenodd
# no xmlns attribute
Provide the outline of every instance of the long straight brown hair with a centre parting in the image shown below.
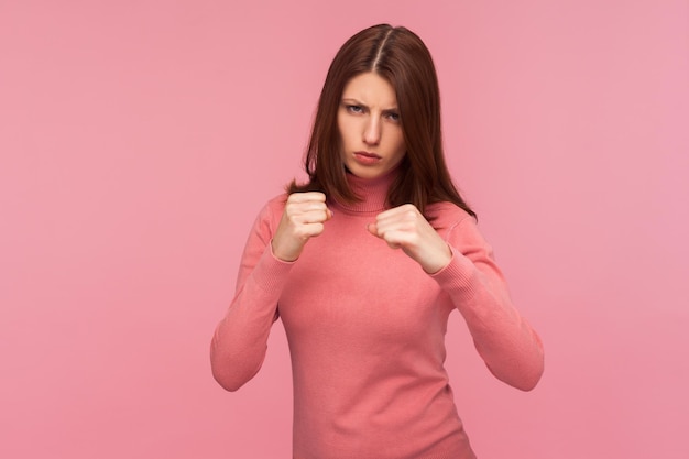
<svg viewBox="0 0 689 459"><path fill-rule="evenodd" d="M452 184L445 162L440 91L430 53L414 32L389 24L357 33L332 59L304 161L309 181L304 185L293 181L287 192L318 190L344 203L361 199L347 183L337 112L347 83L368 72L394 88L406 145L400 174L387 192L387 205L411 203L425 215L428 204L450 201L475 217Z"/></svg>

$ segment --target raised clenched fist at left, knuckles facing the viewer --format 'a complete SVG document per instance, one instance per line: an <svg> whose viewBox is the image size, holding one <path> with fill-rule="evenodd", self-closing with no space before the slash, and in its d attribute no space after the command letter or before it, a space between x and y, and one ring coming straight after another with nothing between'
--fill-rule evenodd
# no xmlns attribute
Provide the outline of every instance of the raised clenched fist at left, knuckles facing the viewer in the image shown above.
<svg viewBox="0 0 689 459"><path fill-rule="evenodd" d="M273 255L282 261L295 261L304 245L320 234L324 223L332 218L326 206L326 195L319 192L293 193L287 197L277 231L271 241Z"/></svg>

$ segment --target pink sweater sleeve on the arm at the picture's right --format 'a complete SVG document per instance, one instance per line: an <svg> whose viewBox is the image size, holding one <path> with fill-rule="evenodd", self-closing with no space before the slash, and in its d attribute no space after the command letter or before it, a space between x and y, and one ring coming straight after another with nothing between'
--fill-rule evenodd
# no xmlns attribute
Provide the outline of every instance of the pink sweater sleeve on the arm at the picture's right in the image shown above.
<svg viewBox="0 0 689 459"><path fill-rule="evenodd" d="M512 304L491 247L471 217L446 236L450 263L433 274L464 318L474 346L499 380L529 391L544 370L540 338Z"/></svg>

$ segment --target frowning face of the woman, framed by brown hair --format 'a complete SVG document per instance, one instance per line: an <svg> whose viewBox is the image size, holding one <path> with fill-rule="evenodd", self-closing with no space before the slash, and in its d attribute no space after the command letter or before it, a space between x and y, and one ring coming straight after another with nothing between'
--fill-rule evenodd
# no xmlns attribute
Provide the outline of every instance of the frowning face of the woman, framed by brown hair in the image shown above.
<svg viewBox="0 0 689 459"><path fill-rule="evenodd" d="M372 72L350 79L338 109L342 161L361 178L380 177L404 157L397 97L393 87Z"/></svg>

